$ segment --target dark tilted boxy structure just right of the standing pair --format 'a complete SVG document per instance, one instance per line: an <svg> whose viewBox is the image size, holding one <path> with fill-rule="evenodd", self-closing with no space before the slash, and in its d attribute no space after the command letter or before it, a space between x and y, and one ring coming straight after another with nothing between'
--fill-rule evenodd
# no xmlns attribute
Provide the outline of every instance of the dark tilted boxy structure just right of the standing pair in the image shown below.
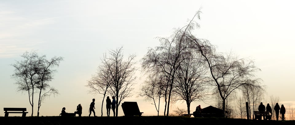
<svg viewBox="0 0 295 125"><path fill-rule="evenodd" d="M141 116L141 114L144 113L140 112L137 102L124 102L121 106L124 116Z"/></svg>

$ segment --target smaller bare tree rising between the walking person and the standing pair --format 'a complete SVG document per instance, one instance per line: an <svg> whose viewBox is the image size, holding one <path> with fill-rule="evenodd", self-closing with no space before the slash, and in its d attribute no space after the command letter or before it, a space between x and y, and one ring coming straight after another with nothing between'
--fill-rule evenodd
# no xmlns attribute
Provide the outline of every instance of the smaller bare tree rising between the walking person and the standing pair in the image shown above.
<svg viewBox="0 0 295 125"><path fill-rule="evenodd" d="M101 59L102 65L98 66L97 72L95 75L92 75L91 79L87 81L87 87L90 88L88 93L92 94L102 94L103 99L101 103L101 116L103 116L103 104L105 95L108 92L108 89L112 83L112 77L110 75L110 70L106 67L105 63L107 60L106 55L104 54L104 58Z"/></svg>

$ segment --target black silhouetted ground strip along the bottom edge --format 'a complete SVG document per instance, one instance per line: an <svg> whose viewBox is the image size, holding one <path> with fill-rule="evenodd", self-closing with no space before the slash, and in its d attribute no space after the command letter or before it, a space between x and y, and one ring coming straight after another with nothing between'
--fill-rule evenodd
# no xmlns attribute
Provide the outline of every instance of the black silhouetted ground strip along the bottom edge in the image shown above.
<svg viewBox="0 0 295 125"><path fill-rule="evenodd" d="M120 117L0 117L1 125L295 125L295 120L188 118L177 116Z"/></svg>

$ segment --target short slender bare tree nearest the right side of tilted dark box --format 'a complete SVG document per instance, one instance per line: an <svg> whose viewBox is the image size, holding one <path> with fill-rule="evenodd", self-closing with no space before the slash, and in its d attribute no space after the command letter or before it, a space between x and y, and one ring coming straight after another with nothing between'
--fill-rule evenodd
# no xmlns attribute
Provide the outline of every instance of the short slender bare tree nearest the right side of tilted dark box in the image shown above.
<svg viewBox="0 0 295 125"><path fill-rule="evenodd" d="M141 86L141 91L139 96L145 97L146 100L152 100L153 105L155 105L156 111L159 116L160 110L160 99L163 97L163 91L165 88L165 77L161 74L150 74L148 80L146 80L143 86ZM158 104L156 103L158 101Z"/></svg>

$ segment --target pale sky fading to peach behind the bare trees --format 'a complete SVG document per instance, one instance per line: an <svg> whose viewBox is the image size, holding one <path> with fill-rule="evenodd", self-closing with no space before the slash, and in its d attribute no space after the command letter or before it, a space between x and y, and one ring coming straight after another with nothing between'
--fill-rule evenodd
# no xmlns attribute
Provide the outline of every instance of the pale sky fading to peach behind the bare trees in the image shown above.
<svg viewBox="0 0 295 125"><path fill-rule="evenodd" d="M253 59L261 69L257 78L267 86L264 104L274 96L285 107L293 107L293 5L291 0L0 0L0 108L27 108L30 116L28 95L17 92L11 64L22 60L25 51L36 50L48 59L64 57L50 82L60 94L42 103L40 116L58 116L63 107L73 113L78 104L83 107L82 116L88 116L92 98L96 99L96 116L100 116L102 95L89 94L85 85L103 53L122 46L125 57L136 54L136 66L140 67L139 60L148 47L160 45L155 37L169 37L173 28L187 25L200 8L201 19L195 20L200 28L195 29L195 36L209 40L218 52L232 51L239 58ZM136 92L144 81L141 75L136 73ZM121 103L136 101L143 116L157 115L151 102L136 96ZM193 102L191 111L199 104L205 108L214 101ZM37 102L35 107L34 116ZM186 104L171 105L170 113L177 107L186 109ZM106 116L105 105L103 114ZM121 105L118 116L124 116Z"/></svg>

